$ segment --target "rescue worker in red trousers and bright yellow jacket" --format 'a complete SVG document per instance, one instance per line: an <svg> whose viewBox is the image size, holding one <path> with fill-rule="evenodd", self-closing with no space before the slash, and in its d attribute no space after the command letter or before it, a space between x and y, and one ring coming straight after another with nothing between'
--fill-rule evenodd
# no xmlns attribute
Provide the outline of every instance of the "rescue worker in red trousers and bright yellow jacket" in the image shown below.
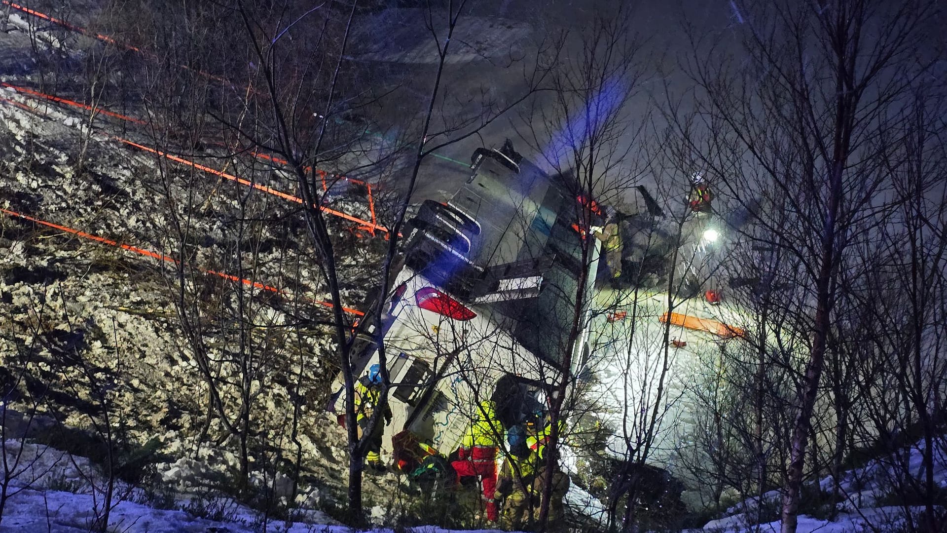
<svg viewBox="0 0 947 533"><path fill-rule="evenodd" d="M480 402L474 413L469 430L460 441L457 460L451 466L457 472L456 482L464 477L477 477L486 502L487 520L499 518L496 507L496 452L503 438L503 425L496 418L496 404L490 400Z"/></svg>

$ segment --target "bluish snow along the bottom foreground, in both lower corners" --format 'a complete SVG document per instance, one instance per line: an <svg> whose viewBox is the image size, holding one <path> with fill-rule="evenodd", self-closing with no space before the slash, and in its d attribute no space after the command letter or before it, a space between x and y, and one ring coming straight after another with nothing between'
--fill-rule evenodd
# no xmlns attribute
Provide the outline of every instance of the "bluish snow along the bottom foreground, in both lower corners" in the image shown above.
<svg viewBox="0 0 947 533"><path fill-rule="evenodd" d="M105 479L101 470L88 459L70 455L61 450L37 444L24 444L9 440L6 443L7 457L16 460L16 475L10 478L9 498L3 510L0 531L88 531L90 524L100 516ZM912 472L920 474L921 445L915 444L908 460ZM938 451L935 460L938 470L935 475L938 487L947 487L947 456ZM11 463L12 464L12 463ZM201 475L193 470L193 464L179 462L173 468L176 473L167 481L172 482L189 475ZM169 476L171 470L166 472ZM866 466L846 472L840 487L846 501L838 505L834 520L799 517L799 533L856 533L862 531L894 531L903 525L903 508L878 505L890 491L892 473L882 461L871 461ZM831 487L831 479L821 481L823 489ZM350 528L331 520L319 511L302 511L293 520L264 517L259 511L241 505L223 496L177 493L170 499L156 499L140 487L117 482L116 502L111 509L109 531L127 532L230 532L251 533L262 530L283 532L324 531L342 533ZM778 503L777 491L763 495L767 505ZM584 491L573 487L566 496L569 505L585 506L591 513L603 519L604 509L598 501L589 498ZM156 502L164 508L156 508ZM756 515L758 499L751 498L727 509L726 517L710 521L701 529L690 530L713 532L774 532L779 531L778 521L754 524L748 517ZM384 520L384 511L379 508L373 515ZM912 512L920 515L919 507ZM390 530L381 529L388 533ZM436 527L420 527L414 531L440 533Z"/></svg>

